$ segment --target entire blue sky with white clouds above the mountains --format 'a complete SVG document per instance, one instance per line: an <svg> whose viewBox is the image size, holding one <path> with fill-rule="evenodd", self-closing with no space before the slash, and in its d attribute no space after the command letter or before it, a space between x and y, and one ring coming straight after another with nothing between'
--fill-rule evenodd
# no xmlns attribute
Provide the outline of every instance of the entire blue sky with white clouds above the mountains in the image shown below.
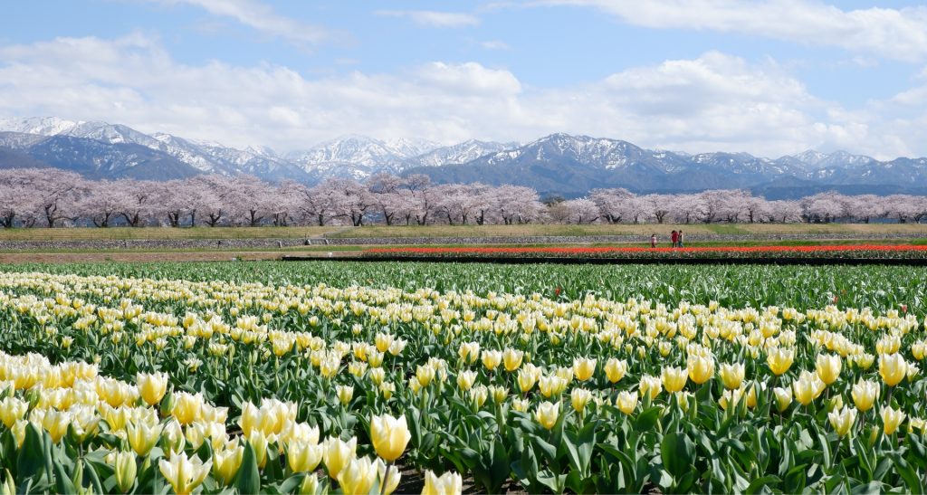
<svg viewBox="0 0 927 495"><path fill-rule="evenodd" d="M844 0L34 0L0 117L227 146L550 133L927 156L927 6Z"/></svg>

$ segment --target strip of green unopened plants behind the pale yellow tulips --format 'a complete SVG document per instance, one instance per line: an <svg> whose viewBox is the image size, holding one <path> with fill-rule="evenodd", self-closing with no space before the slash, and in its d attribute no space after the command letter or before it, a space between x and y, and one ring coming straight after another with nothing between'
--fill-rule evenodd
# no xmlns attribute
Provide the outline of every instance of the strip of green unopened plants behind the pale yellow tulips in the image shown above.
<svg viewBox="0 0 927 495"><path fill-rule="evenodd" d="M205 263L84 263L7 265L3 271L119 275L188 281L399 287L414 291L473 290L565 298L595 293L606 298L656 298L753 307L791 305L805 310L826 305L832 296L853 307L885 310L906 303L927 312L927 268L889 266L771 265L500 265L481 263L237 261Z"/></svg>

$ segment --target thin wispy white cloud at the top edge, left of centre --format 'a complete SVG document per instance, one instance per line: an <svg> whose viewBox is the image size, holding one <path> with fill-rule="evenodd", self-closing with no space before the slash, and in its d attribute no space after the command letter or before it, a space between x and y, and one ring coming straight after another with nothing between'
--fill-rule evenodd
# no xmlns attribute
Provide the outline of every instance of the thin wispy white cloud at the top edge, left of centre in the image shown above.
<svg viewBox="0 0 927 495"><path fill-rule="evenodd" d="M198 6L215 16L228 17L297 44L318 44L339 34L322 26L314 26L281 16L259 0L149 0L165 5Z"/></svg>

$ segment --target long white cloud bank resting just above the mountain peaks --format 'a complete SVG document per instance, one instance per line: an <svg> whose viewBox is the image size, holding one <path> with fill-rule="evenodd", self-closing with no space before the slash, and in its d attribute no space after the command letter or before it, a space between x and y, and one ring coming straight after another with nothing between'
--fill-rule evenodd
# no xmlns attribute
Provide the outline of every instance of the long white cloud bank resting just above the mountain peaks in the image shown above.
<svg viewBox="0 0 927 495"><path fill-rule="evenodd" d="M315 78L270 64L186 65L143 34L0 46L0 116L49 115L282 151L347 133L450 144L566 132L691 152L927 155L927 88L844 109L772 61L717 52L534 88L476 62Z"/></svg>

